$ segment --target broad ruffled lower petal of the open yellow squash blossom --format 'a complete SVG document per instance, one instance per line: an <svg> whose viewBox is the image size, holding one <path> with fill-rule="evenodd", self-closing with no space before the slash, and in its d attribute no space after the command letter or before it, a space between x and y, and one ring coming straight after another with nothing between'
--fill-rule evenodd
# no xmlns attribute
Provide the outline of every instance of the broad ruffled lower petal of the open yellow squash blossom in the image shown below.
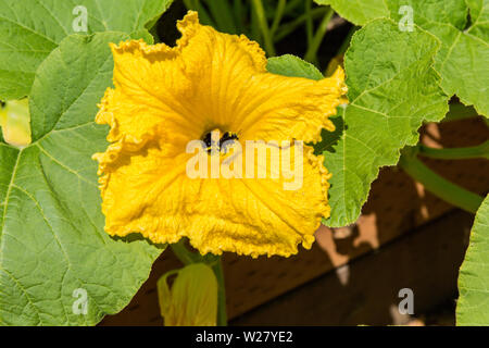
<svg viewBox="0 0 489 348"><path fill-rule="evenodd" d="M329 214L330 175L312 151L304 147L297 190L284 189L283 176L269 178L272 157L266 178L192 179L186 174L190 154L167 156L156 146L123 152L101 177L105 231L113 236L141 233L156 244L185 236L202 254L297 253L300 243L311 247L321 219Z"/></svg>

